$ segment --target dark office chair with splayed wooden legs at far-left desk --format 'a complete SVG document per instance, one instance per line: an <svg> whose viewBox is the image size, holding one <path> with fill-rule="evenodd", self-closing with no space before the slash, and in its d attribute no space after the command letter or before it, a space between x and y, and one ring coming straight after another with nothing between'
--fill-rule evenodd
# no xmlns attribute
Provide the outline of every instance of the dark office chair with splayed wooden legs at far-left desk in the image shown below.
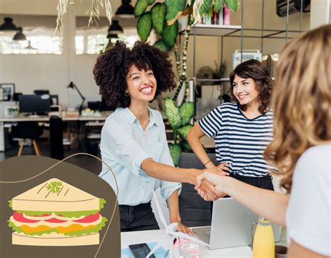
<svg viewBox="0 0 331 258"><path fill-rule="evenodd" d="M31 139L34 144L34 151L36 155L41 155L41 151L36 143L36 139L43 134L43 128L38 126L36 122L20 122L17 126L13 128L13 137L23 139L20 144L20 149L18 150L17 156L22 154L25 139Z"/></svg>

